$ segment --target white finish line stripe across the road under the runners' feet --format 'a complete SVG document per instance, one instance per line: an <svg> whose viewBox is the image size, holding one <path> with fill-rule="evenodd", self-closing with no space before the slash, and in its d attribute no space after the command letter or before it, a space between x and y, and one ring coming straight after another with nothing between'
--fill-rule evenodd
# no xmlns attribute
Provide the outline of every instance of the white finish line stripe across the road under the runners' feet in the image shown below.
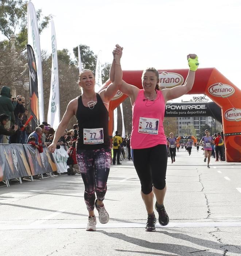
<svg viewBox="0 0 241 256"><path fill-rule="evenodd" d="M115 228L144 228L145 223L107 223L99 224L96 227L101 229L115 229ZM240 222L171 222L167 226L156 227L241 227ZM85 229L85 224L49 224L49 225L5 225L0 226L0 230L28 230L28 229Z"/></svg>

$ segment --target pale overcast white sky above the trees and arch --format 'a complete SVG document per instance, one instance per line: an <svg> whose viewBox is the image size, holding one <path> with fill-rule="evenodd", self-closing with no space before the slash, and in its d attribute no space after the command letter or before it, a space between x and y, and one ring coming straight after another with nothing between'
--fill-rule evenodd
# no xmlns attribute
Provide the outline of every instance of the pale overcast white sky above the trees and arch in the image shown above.
<svg viewBox="0 0 241 256"><path fill-rule="evenodd" d="M112 62L115 44L124 47L123 70L187 68L196 53L199 67L215 67L241 89L240 0L32 0L53 15L57 49L85 44L102 63ZM51 26L40 35L51 53ZM190 98L190 97L189 97Z"/></svg>

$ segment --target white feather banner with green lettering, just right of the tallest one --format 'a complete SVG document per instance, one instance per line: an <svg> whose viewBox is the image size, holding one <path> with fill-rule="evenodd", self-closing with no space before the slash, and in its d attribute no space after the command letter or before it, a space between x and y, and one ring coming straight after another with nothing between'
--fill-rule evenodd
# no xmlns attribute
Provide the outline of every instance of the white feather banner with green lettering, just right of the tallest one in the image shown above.
<svg viewBox="0 0 241 256"><path fill-rule="evenodd" d="M59 111L59 72L58 72L58 56L56 46L56 36L54 28L54 20L51 20L51 42L52 42L52 70L51 70L51 85L50 96L48 102L48 124L54 129L57 129L60 123Z"/></svg>

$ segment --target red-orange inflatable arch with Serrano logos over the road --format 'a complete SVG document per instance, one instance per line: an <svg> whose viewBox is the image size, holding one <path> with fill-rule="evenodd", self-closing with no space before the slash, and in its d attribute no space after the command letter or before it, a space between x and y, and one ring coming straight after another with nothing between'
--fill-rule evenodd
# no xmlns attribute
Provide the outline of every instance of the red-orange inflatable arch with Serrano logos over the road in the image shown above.
<svg viewBox="0 0 241 256"><path fill-rule="evenodd" d="M183 84L188 69L158 70L160 86L172 88ZM142 88L143 71L123 71L123 80ZM102 89L110 84L108 80ZM101 90L102 90L101 89ZM199 68L196 71L193 89L188 94L206 94L222 109L222 123L227 162L241 162L241 90L215 68ZM109 105L109 136L113 132L113 110L126 95L120 91Z"/></svg>

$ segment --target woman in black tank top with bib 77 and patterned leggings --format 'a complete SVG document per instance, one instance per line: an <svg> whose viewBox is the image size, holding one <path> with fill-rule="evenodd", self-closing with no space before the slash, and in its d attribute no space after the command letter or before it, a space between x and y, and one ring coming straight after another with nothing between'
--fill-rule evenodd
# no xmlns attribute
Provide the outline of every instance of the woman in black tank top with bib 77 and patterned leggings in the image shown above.
<svg viewBox="0 0 241 256"><path fill-rule="evenodd" d="M116 64L115 77L117 75L120 77L121 49L118 45L116 47L117 50L115 49L113 52L113 64ZM69 102L55 132L53 143L48 147L50 152L54 152L56 143L65 131L70 119L75 115L78 121L76 159L85 184L84 198L89 212L87 231L96 230L94 208L99 213L101 223L109 221L109 214L103 204L111 162L108 109L109 101L116 95L121 81L121 79L116 78L113 84L102 88L100 93L96 93L92 71L83 70L79 75L79 86L83 93Z"/></svg>

